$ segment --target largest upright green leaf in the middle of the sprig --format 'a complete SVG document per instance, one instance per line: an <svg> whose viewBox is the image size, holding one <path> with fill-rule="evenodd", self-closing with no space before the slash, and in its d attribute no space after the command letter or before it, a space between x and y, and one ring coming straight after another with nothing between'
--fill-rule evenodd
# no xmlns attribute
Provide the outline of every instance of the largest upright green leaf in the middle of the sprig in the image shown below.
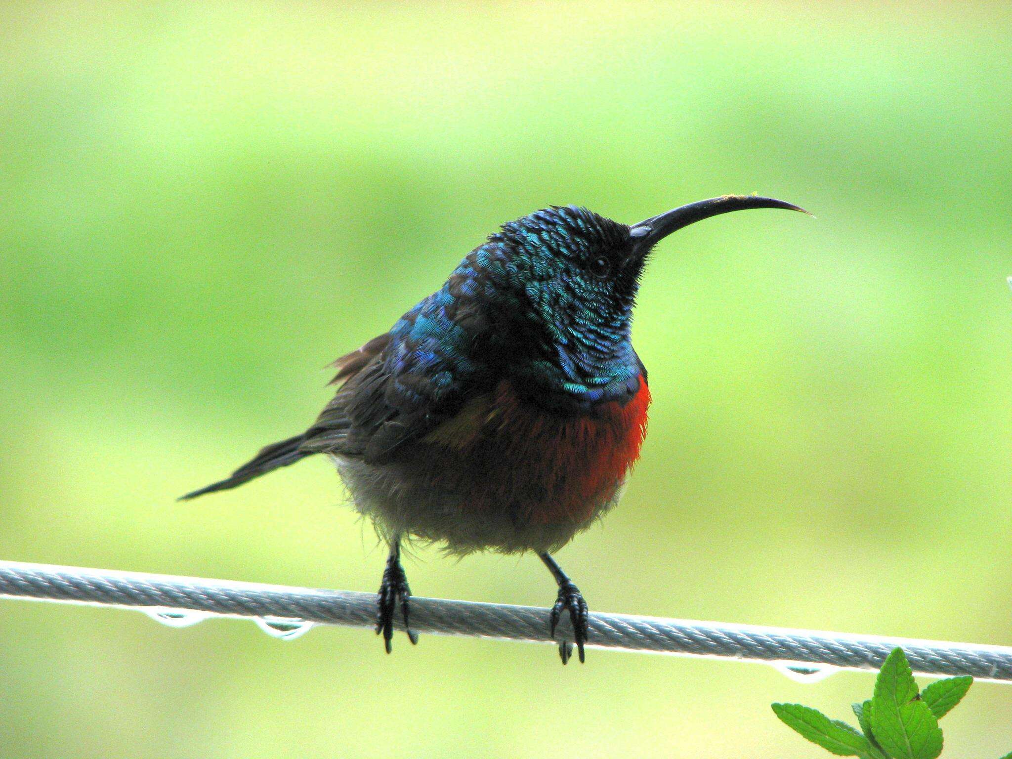
<svg viewBox="0 0 1012 759"><path fill-rule="evenodd" d="M938 720L920 699L901 649L889 655L878 673L868 723L878 745L894 759L936 759L942 751Z"/></svg>

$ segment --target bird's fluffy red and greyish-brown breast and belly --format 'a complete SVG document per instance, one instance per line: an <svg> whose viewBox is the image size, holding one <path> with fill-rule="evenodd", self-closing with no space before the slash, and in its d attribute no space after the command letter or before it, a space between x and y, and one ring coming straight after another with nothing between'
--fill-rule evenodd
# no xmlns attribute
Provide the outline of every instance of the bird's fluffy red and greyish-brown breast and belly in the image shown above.
<svg viewBox="0 0 1012 759"><path fill-rule="evenodd" d="M593 415L525 404L503 382L399 460L338 461L356 507L381 530L451 553L552 551L613 505L646 433L650 391Z"/></svg>

